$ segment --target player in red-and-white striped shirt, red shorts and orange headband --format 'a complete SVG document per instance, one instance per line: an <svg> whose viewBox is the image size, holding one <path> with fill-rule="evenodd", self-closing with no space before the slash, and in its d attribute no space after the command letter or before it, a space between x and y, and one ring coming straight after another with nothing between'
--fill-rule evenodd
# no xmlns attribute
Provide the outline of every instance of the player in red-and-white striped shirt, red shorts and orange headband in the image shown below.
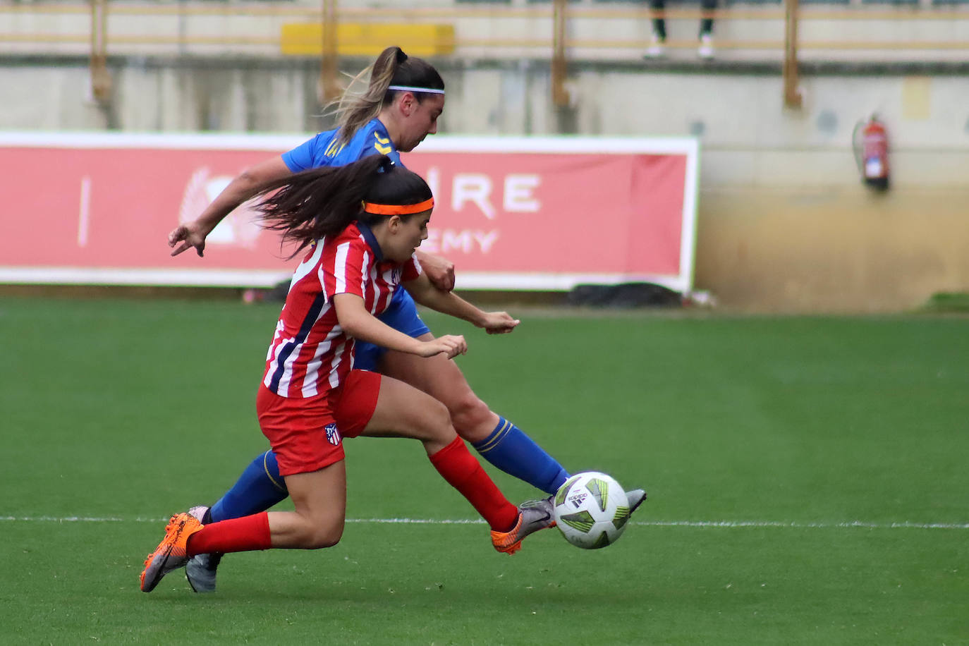
<svg viewBox="0 0 969 646"><path fill-rule="evenodd" d="M279 189L275 193L275 191ZM468 452L443 404L414 386L354 368L357 340L444 360L464 354L461 336L416 339L376 318L403 285L422 305L483 327L511 332L505 312L483 312L435 288L415 256L427 237L433 197L416 173L386 155L300 172L261 187L269 228L309 251L297 266L266 356L256 400L260 427L278 461L295 511L262 511L203 525L172 516L148 555L141 590L196 554L336 544L346 513L342 439L420 440L431 463L485 518L500 552L550 527L547 501L516 508Z"/></svg>

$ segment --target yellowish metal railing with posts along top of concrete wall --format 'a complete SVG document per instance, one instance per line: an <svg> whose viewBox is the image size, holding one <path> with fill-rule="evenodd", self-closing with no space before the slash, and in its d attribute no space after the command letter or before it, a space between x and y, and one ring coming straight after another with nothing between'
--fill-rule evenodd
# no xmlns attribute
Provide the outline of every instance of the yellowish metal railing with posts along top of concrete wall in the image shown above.
<svg viewBox="0 0 969 646"><path fill-rule="evenodd" d="M790 106L799 102L797 57L801 52L847 52L850 59L864 51L882 51L885 55L922 52L942 56L946 52L961 55L969 50L969 36L964 31L947 31L952 24L969 25L969 7L804 7L798 6L797 0L785 0L784 6L732 6L713 11L655 11L632 4L574 6L565 0L553 0L541 6L394 5L380 8L341 7L337 0L320 0L318 5L211 4L193 0L172 4L116 0L32 2L0 4L0 49L33 54L89 53L92 93L99 98L109 94L106 67L109 54L282 56L283 24L293 21L318 23L323 25L319 53L321 85L329 94L336 91L336 61L342 53L335 36L335 25L436 21L453 25L453 42L442 44L450 52L447 55L547 59L553 77L553 98L556 104L563 105L568 101L564 82L569 60L639 59L641 52L650 45L648 24L654 17L670 20L712 17L718 25L721 22L746 25L747 32L741 36L718 36L718 51L735 57L759 55L782 61L785 100ZM918 34L919 30L911 28L915 21L935 25L938 33L929 38L909 37L911 33ZM828 23L868 29L863 37L851 34L834 38L819 37L819 31L824 32L824 29L802 29L805 25ZM905 37L886 38L884 32L891 29L871 28L871 25L895 25L911 33ZM808 31L810 33L805 33ZM765 32L769 32L767 37ZM940 37L939 33L953 35ZM609 37L602 34L609 34ZM406 34L402 34L402 38L403 41L396 44L406 49ZM666 46L672 50L685 49L696 47L696 41L673 39Z"/></svg>

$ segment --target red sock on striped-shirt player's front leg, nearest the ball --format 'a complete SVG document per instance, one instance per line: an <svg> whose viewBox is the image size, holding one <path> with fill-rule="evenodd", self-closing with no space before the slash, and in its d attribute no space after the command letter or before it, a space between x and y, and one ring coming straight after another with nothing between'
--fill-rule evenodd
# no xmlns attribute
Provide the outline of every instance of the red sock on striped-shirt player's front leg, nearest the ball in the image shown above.
<svg viewBox="0 0 969 646"><path fill-rule="evenodd" d="M491 481L463 440L454 438L450 445L430 456L430 463L482 514L492 530L507 532L515 527L518 508Z"/></svg>

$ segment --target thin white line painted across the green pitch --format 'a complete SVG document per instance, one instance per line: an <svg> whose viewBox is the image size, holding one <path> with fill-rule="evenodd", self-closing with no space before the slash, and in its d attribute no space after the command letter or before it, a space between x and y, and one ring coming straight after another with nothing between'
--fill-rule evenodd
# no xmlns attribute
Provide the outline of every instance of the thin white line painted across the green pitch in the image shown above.
<svg viewBox="0 0 969 646"><path fill-rule="evenodd" d="M116 516L0 516L0 521L27 523L164 523L167 518L119 518ZM484 520L457 519L434 520L429 518L347 518L348 523L376 523L401 525L473 525L484 524ZM833 523L810 523L799 521L772 520L634 520L630 525L643 527L699 527L721 529L743 528L791 528L791 529L868 529L868 530L969 530L969 523L913 523L909 521L892 523L867 523L860 520Z"/></svg>

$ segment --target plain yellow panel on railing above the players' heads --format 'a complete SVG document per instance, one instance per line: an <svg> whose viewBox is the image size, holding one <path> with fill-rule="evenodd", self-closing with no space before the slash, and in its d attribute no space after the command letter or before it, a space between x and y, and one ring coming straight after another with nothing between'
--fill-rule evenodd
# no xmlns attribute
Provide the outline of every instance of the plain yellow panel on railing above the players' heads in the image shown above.
<svg viewBox="0 0 969 646"><path fill-rule="evenodd" d="M376 56L386 47L399 46L415 56L437 56L454 51L454 26L432 23L341 22L336 26L337 53L341 56ZM323 53L323 25L290 22L282 26L280 51L291 56Z"/></svg>

